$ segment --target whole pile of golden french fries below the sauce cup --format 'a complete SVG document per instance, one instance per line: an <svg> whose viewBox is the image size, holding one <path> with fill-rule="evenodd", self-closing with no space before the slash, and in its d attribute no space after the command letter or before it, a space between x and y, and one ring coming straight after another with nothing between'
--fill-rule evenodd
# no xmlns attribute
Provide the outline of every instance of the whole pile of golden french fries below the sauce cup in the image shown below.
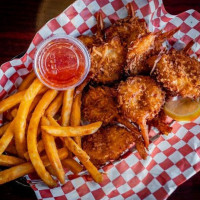
<svg viewBox="0 0 200 200"><path fill-rule="evenodd" d="M78 174L83 167L94 181L102 181L81 148L81 136L95 133L102 124L80 125L81 88L48 89L31 72L17 93L0 102L0 113L9 121L0 127L0 166L8 167L0 171L0 184L36 172L55 187L57 181L65 183L65 168Z"/></svg>

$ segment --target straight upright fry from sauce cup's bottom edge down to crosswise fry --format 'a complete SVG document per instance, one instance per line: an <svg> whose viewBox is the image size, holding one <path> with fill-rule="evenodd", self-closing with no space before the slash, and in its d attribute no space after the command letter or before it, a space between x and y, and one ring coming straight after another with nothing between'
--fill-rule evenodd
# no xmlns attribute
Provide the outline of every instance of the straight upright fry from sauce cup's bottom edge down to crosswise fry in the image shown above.
<svg viewBox="0 0 200 200"><path fill-rule="evenodd" d="M64 92L63 106L62 106L62 111L61 111L61 124L62 124L62 126L68 126L69 125L73 96L74 96L74 88L68 89Z"/></svg>

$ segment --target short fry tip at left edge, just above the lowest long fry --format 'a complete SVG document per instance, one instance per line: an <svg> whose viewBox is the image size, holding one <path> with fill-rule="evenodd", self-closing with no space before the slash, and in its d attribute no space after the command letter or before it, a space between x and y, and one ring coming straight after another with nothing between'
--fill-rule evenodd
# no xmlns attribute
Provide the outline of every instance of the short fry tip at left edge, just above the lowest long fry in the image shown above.
<svg viewBox="0 0 200 200"><path fill-rule="evenodd" d="M24 163L24 160L14 156L0 155L0 166L14 166Z"/></svg>

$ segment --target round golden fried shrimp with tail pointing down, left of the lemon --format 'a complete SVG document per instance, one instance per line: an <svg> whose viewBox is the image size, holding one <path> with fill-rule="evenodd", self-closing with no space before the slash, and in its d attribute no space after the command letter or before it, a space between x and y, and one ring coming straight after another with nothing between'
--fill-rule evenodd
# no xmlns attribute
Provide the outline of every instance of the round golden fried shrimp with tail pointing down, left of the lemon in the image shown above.
<svg viewBox="0 0 200 200"><path fill-rule="evenodd" d="M118 102L124 117L139 125L148 148L147 121L152 120L165 101L165 93L147 76L129 77L118 86Z"/></svg>

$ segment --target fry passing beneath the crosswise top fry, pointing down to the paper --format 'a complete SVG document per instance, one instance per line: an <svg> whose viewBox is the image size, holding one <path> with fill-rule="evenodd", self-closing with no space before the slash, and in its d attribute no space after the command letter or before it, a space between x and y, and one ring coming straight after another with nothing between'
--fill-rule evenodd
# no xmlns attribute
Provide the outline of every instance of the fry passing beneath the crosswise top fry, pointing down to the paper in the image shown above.
<svg viewBox="0 0 200 200"><path fill-rule="evenodd" d="M42 125L50 125L49 120L46 117L42 117ZM65 172L62 167L62 163L59 159L55 139L53 136L49 135L45 131L42 131L42 141L44 143L46 154L49 158L51 166L53 167L58 180L64 184L65 183Z"/></svg>

